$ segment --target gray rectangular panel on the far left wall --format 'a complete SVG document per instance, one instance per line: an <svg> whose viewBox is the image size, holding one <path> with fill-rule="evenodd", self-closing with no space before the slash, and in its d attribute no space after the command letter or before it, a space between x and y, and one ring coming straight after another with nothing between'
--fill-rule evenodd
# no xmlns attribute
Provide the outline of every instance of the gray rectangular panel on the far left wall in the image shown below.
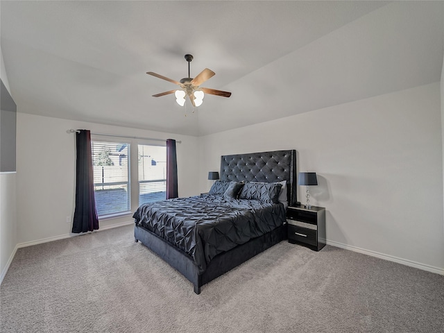
<svg viewBox="0 0 444 333"><path fill-rule="evenodd" d="M0 172L15 171L17 105L1 82L0 90Z"/></svg>

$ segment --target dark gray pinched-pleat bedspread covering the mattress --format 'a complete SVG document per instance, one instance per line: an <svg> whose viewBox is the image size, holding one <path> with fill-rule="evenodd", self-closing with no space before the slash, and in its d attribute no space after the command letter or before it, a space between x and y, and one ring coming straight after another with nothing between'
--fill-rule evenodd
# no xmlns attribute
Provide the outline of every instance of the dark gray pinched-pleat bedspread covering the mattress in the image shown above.
<svg viewBox="0 0 444 333"><path fill-rule="evenodd" d="M192 196L141 205L133 215L142 226L190 255L199 271L222 253L285 222L282 203Z"/></svg>

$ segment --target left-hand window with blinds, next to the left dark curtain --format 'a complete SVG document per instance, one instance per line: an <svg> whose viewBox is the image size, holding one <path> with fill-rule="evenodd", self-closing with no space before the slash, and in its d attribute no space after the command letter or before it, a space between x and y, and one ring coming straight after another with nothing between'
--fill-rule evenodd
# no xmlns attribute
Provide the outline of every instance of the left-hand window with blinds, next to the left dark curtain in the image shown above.
<svg viewBox="0 0 444 333"><path fill-rule="evenodd" d="M92 141L94 196L97 215L130 211L130 144Z"/></svg>

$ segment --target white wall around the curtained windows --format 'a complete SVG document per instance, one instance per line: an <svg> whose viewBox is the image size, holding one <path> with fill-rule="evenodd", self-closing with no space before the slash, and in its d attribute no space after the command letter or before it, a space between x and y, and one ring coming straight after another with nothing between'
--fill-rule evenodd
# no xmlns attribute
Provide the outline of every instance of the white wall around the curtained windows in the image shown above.
<svg viewBox="0 0 444 333"><path fill-rule="evenodd" d="M181 140L178 154L180 196L198 194L194 185L198 153L196 137L156 133L98 123L85 123L17 113L17 237L23 244L42 239L67 237L74 215L76 139L67 130L89 129L92 133L110 133L157 139ZM132 223L131 216L100 221L100 228Z"/></svg>

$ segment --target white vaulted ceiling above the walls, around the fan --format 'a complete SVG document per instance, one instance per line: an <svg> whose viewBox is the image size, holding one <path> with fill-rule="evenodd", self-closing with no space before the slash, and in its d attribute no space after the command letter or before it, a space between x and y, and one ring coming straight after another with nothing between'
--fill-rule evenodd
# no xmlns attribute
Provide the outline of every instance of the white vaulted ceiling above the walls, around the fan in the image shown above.
<svg viewBox="0 0 444 333"><path fill-rule="evenodd" d="M442 1L1 1L19 112L207 135L441 80ZM191 112L152 94L216 72ZM185 112L187 110L187 112ZM185 116L187 113L187 117Z"/></svg>

